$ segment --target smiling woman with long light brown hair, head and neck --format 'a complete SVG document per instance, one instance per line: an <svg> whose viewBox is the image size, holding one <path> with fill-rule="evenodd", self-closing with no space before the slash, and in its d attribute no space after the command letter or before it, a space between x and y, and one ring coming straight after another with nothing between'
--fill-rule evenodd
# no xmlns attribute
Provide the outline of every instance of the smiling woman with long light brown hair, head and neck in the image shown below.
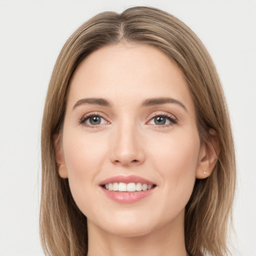
<svg viewBox="0 0 256 256"><path fill-rule="evenodd" d="M45 102L49 255L226 255L230 122L206 49L159 9L100 13L67 40Z"/></svg>

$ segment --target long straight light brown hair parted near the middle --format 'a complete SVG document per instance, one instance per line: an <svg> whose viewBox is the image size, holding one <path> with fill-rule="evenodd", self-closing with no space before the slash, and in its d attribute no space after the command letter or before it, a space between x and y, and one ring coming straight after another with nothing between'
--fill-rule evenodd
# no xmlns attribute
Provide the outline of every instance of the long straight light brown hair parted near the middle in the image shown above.
<svg viewBox="0 0 256 256"><path fill-rule="evenodd" d="M47 255L87 253L86 217L71 196L68 180L57 172L54 134L61 133L70 77L96 49L120 41L162 50L183 72L194 100L201 141L214 129L220 153L211 175L197 179L185 208L185 245L190 255L227 254L226 234L235 187L235 156L228 111L211 57L198 37L162 10L137 6L122 13L102 12L83 23L66 41L55 63L41 131L42 185L40 235Z"/></svg>

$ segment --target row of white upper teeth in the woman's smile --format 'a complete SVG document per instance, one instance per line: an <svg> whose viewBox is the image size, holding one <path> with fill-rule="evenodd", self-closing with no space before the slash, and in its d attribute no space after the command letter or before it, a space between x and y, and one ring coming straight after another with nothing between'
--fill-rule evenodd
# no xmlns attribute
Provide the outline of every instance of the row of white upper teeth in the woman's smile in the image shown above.
<svg viewBox="0 0 256 256"><path fill-rule="evenodd" d="M151 189L153 187L152 184L142 184L140 182L138 183L124 183L124 182L113 182L113 183L108 183L105 184L105 189L110 190L110 191L121 191L121 192L134 192L134 191L145 191L147 189Z"/></svg>

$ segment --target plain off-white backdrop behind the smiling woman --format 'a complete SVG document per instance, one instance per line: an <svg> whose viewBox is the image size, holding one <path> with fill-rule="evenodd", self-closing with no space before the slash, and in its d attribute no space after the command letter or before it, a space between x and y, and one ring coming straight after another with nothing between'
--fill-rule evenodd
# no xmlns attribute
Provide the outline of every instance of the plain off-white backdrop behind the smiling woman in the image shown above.
<svg viewBox="0 0 256 256"><path fill-rule="evenodd" d="M0 0L0 256L43 255L38 231L40 125L68 36L104 10L166 10L192 28L219 72L237 155L232 255L256 256L255 0Z"/></svg>

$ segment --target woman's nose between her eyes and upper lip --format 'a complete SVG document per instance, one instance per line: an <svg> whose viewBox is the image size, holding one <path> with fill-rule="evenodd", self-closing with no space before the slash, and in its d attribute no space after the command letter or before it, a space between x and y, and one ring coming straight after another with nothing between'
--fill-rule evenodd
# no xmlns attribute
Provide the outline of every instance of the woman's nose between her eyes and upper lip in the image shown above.
<svg viewBox="0 0 256 256"><path fill-rule="evenodd" d="M143 143L135 125L118 127L111 139L110 160L113 164L134 166L145 159Z"/></svg>

